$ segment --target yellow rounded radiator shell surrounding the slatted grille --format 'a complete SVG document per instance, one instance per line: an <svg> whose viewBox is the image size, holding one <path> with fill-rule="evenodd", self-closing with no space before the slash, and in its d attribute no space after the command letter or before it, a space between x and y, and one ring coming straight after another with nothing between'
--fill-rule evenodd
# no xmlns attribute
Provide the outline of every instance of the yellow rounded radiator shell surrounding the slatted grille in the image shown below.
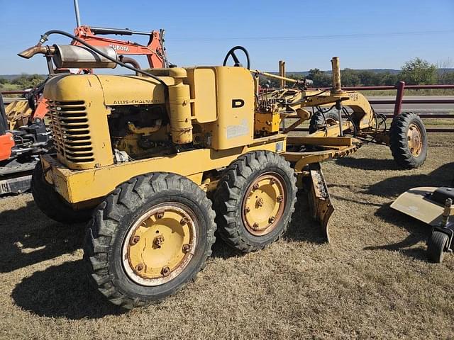
<svg viewBox="0 0 454 340"><path fill-rule="evenodd" d="M69 169L92 169L114 163L104 91L94 74L52 77L46 84L49 125L57 157ZM117 81L114 76L113 81Z"/></svg>

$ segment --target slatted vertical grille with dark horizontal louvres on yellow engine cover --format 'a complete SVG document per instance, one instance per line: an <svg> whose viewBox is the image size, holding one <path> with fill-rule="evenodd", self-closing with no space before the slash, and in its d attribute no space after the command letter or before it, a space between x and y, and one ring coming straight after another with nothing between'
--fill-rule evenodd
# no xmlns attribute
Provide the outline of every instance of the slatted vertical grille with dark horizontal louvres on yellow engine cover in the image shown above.
<svg viewBox="0 0 454 340"><path fill-rule="evenodd" d="M59 159L94 162L87 108L84 101L48 101L50 129Z"/></svg>

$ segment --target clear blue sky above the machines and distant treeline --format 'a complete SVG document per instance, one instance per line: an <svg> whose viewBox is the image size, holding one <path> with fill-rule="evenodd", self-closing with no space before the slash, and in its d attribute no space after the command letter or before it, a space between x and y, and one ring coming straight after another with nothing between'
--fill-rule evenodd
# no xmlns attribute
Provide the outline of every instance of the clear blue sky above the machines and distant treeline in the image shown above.
<svg viewBox="0 0 454 340"><path fill-rule="evenodd" d="M220 64L230 47L243 45L252 67L265 71L277 70L279 59L289 71L329 69L335 55L342 68L397 69L414 57L450 59L454 67L454 0L79 0L79 7L86 25L165 28L170 61L179 66ZM16 53L46 30L72 33L73 2L0 0L0 27L0 74L46 73L42 57Z"/></svg>

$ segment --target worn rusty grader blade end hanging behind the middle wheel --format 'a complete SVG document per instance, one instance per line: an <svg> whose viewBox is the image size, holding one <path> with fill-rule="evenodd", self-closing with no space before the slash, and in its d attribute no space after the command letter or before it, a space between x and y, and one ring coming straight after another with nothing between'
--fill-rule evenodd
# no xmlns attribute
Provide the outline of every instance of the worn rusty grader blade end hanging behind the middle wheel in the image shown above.
<svg viewBox="0 0 454 340"><path fill-rule="evenodd" d="M334 207L333 203L331 203L320 163L309 164L309 172L311 174L311 181L308 194L311 214L321 224L326 241L330 242L328 222L331 214L333 214Z"/></svg>

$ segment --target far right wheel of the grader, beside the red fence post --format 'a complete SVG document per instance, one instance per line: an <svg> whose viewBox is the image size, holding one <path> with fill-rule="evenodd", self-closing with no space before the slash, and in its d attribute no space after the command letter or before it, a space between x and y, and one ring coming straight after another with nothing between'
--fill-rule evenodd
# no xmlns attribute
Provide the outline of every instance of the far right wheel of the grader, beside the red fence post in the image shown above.
<svg viewBox="0 0 454 340"><path fill-rule="evenodd" d="M423 165L427 157L427 132L418 115L401 113L392 120L389 129L389 147L392 157L403 169Z"/></svg>

